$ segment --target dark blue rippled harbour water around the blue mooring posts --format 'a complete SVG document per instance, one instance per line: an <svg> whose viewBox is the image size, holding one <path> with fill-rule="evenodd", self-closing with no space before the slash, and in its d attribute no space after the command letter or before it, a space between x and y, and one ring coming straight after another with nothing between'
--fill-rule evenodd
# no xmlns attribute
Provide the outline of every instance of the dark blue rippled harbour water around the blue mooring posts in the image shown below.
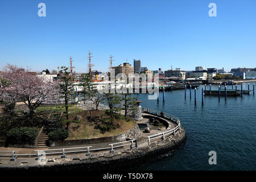
<svg viewBox="0 0 256 182"><path fill-rule="evenodd" d="M253 83L250 83L252 89ZM154 164L143 166L145 170L255 170L256 169L256 96L253 92L243 97L204 96L201 106L201 85L197 89L197 105L192 98L184 100L184 90L159 92L159 104L148 100L147 94L137 94L142 107L164 111L178 117L187 133L183 149ZM227 85L228 89L232 85ZM217 89L212 85L212 89ZM241 86L238 86L240 89ZM209 85L207 86L209 89ZM243 89L247 89L247 84ZM217 164L208 163L209 151L217 152Z"/></svg>

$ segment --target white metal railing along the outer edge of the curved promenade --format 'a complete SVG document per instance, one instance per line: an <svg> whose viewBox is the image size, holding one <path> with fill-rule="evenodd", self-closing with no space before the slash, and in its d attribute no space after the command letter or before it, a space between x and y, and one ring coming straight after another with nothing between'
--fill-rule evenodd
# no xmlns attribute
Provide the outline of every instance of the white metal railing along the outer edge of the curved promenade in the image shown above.
<svg viewBox="0 0 256 182"><path fill-rule="evenodd" d="M171 134L175 134L175 131L180 129L180 126L181 126L180 120L174 115L162 113L160 111L147 109L147 108L142 108L142 111L145 111L151 114L156 114L159 116L162 115L162 117L171 119L171 121L174 121L176 123L176 126L174 129L170 129L159 134L148 136L147 137L148 143L150 143L152 139L157 139L157 138L162 138L164 140L165 138L169 137ZM87 152L86 155L90 155L90 151L103 151L103 150L110 150L110 152L113 154L114 148L125 147L125 146L130 146L131 148L134 148L135 143L136 143L136 140L134 139L134 140L128 140L124 142L111 143L109 144L110 147L105 147L105 148L91 148L92 146L85 146L85 147L71 147L71 148L55 148L55 149L49 149L49 150L35 150L34 152L36 152L37 154L15 154L18 151L0 151L0 156L3 156L3 157L11 156L12 158L16 158L17 156L40 157L42 156L42 152L43 152L45 155L59 154L61 155L61 157L64 157L68 153ZM72 151L69 151L69 150L72 150ZM11 154L1 154L1 153L11 153Z"/></svg>

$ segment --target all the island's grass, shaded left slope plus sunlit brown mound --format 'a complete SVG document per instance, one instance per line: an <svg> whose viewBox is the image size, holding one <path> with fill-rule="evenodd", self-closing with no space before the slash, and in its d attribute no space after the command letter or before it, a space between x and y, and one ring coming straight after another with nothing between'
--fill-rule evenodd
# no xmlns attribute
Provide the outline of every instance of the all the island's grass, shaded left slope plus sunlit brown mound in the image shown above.
<svg viewBox="0 0 256 182"><path fill-rule="evenodd" d="M2 110L2 108L0 109ZM20 114L20 111L13 115L0 112L0 140L5 140L8 131L13 127L37 127L40 129L49 113L61 113L64 111L64 106L39 106L32 121L28 121L25 116L18 116L17 114ZM80 121L75 121L77 115L81 116L82 119ZM126 121L124 117L115 118L113 125L110 125L110 121L106 120L108 118L110 118L109 115L105 114L103 110L90 112L80 109L76 105L69 106L69 120L73 122L70 124L70 133L67 139L118 135L133 129L136 125L132 119ZM65 121L65 114L63 114L61 121ZM63 123L63 126L65 126L65 123Z"/></svg>

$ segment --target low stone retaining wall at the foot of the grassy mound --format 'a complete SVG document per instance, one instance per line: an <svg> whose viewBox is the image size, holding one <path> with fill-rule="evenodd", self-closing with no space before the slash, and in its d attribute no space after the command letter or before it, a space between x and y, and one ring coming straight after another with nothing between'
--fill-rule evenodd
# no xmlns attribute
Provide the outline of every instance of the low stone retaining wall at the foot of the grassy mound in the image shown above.
<svg viewBox="0 0 256 182"><path fill-rule="evenodd" d="M110 136L110 137L100 137L100 138L86 138L86 139L73 139L64 141L49 141L49 147L61 147L61 146L76 146L80 144L94 144L94 143L107 143L107 142L123 142L126 138L138 138L141 136L141 130L139 126L136 126L127 131L126 133Z"/></svg>

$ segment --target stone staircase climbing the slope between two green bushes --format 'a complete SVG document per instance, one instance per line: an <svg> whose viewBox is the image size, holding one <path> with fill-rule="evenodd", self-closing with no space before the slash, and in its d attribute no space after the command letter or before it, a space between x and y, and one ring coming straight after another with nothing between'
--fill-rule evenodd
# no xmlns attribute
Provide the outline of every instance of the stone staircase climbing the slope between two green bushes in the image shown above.
<svg viewBox="0 0 256 182"><path fill-rule="evenodd" d="M61 118L61 114L56 114L56 113L49 114L47 123L46 125L44 125L43 132L40 135L36 148L48 147L48 143L49 143L48 133L51 131L52 128L57 127L57 122L60 120L60 118Z"/></svg>

